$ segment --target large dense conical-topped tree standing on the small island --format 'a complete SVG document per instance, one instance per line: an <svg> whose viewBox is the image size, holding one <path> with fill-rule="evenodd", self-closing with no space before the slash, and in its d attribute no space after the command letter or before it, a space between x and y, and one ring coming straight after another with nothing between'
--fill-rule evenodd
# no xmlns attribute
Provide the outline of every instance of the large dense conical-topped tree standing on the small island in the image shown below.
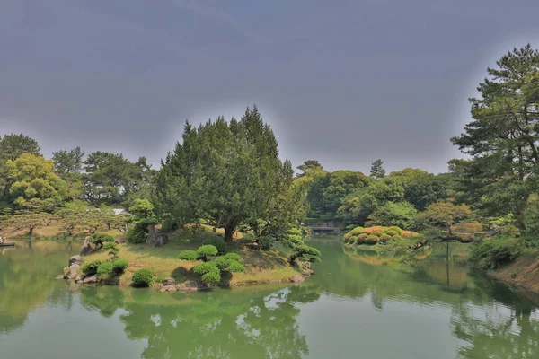
<svg viewBox="0 0 539 359"><path fill-rule="evenodd" d="M211 223L224 228L230 242L239 225L256 230L259 220L274 222L298 205L287 195L292 166L279 159L273 131L256 107L247 109L240 121L217 118L197 128L187 123L182 137L156 179L161 218Z"/></svg>

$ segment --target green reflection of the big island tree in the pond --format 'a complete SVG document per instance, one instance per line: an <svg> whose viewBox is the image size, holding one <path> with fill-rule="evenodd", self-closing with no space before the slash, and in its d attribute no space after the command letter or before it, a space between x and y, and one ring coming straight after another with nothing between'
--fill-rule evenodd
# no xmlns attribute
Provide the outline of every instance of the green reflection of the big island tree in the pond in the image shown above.
<svg viewBox="0 0 539 359"><path fill-rule="evenodd" d="M319 297L312 287L291 286L277 291L175 294L181 300L165 305L136 298L122 304L123 295L102 289L85 288L84 305L105 316L123 306L128 314L120 320L128 337L148 340L145 358L301 358L308 350L305 336L299 334L295 304Z"/></svg>

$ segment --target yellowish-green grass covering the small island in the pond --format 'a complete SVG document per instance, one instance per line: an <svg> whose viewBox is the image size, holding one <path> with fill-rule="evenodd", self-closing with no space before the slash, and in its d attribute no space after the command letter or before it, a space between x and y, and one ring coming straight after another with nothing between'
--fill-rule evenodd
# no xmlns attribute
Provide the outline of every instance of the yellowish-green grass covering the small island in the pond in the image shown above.
<svg viewBox="0 0 539 359"><path fill-rule="evenodd" d="M218 233L218 232L217 232ZM154 272L154 283L159 285L165 278L174 278L178 283L187 280L199 280L200 276L191 271L200 261L178 259L182 250L196 250L199 245L217 234L204 227L202 232L178 231L169 234L169 242L163 247L152 247L144 244L123 243L119 245L119 258L128 261L128 268L119 277L120 285L130 285L131 277L137 269L148 268ZM245 273L233 273L231 277L223 276L223 284L253 285L261 283L278 283L287 281L298 272L287 261L287 255L278 250L259 251L237 235L229 251L242 256ZM105 260L107 251L101 250L84 257L84 262Z"/></svg>

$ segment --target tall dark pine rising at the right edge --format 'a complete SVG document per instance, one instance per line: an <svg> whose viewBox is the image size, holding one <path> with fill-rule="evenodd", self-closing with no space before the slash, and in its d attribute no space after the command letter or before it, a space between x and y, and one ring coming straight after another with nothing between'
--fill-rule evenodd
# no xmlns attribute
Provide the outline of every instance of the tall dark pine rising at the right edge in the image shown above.
<svg viewBox="0 0 539 359"><path fill-rule="evenodd" d="M461 168L476 206L487 215L511 213L525 229L527 185L539 162L539 52L514 48L488 68L470 99L473 121L453 144L472 159Z"/></svg>

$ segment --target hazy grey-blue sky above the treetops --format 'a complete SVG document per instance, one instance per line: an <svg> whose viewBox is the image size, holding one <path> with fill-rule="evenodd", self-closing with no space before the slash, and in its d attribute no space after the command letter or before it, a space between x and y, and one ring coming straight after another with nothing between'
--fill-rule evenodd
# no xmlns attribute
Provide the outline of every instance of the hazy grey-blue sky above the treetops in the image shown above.
<svg viewBox="0 0 539 359"><path fill-rule="evenodd" d="M536 0L2 0L0 134L146 155L256 103L295 166L446 171L487 66L539 46Z"/></svg>

